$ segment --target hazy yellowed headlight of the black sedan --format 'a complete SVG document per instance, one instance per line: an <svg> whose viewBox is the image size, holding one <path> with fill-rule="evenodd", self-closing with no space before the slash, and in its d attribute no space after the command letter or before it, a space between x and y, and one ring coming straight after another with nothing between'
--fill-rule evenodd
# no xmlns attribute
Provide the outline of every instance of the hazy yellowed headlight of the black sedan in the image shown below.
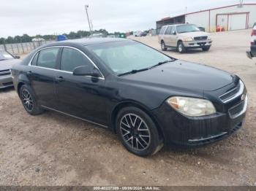
<svg viewBox="0 0 256 191"><path fill-rule="evenodd" d="M167 99L167 103L188 116L203 116L216 113L216 109L211 101L202 98L189 98L189 97L171 97Z"/></svg>

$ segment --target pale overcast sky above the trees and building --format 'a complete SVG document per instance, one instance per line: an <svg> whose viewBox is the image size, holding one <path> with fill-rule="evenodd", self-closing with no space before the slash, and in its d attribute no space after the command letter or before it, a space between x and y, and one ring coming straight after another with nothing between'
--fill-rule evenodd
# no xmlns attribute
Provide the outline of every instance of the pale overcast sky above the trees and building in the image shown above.
<svg viewBox="0 0 256 191"><path fill-rule="evenodd" d="M0 37L89 31L138 31L156 28L156 21L186 12L238 4L238 0L0 0ZM256 0L244 0L244 3Z"/></svg>

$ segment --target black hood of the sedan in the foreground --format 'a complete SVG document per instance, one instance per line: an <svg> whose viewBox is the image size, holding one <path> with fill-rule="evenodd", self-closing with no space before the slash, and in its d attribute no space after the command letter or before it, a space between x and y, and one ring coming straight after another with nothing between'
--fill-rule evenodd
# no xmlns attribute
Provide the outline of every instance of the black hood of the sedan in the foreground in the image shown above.
<svg viewBox="0 0 256 191"><path fill-rule="evenodd" d="M135 74L127 74L121 78L133 81L132 84L135 85L144 84L151 87L186 91L213 91L233 82L233 76L226 71L180 60Z"/></svg>

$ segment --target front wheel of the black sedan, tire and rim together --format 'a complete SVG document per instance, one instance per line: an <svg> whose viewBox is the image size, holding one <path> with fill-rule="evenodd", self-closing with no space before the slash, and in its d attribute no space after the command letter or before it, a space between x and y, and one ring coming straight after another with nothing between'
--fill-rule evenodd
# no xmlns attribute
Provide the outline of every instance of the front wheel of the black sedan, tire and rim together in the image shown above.
<svg viewBox="0 0 256 191"><path fill-rule="evenodd" d="M151 117L134 106L125 107L116 117L116 131L124 147L135 155L154 155L163 146Z"/></svg>

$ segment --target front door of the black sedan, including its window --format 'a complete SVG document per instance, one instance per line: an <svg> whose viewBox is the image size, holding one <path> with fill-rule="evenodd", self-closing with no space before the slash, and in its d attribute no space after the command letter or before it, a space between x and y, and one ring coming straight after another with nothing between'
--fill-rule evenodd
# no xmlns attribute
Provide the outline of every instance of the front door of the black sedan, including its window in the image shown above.
<svg viewBox="0 0 256 191"><path fill-rule="evenodd" d="M59 71L56 73L56 92L59 98L59 110L85 120L100 124L107 121L105 79L89 76L74 76L72 71L78 66L94 64L80 50L64 47L61 54Z"/></svg>

